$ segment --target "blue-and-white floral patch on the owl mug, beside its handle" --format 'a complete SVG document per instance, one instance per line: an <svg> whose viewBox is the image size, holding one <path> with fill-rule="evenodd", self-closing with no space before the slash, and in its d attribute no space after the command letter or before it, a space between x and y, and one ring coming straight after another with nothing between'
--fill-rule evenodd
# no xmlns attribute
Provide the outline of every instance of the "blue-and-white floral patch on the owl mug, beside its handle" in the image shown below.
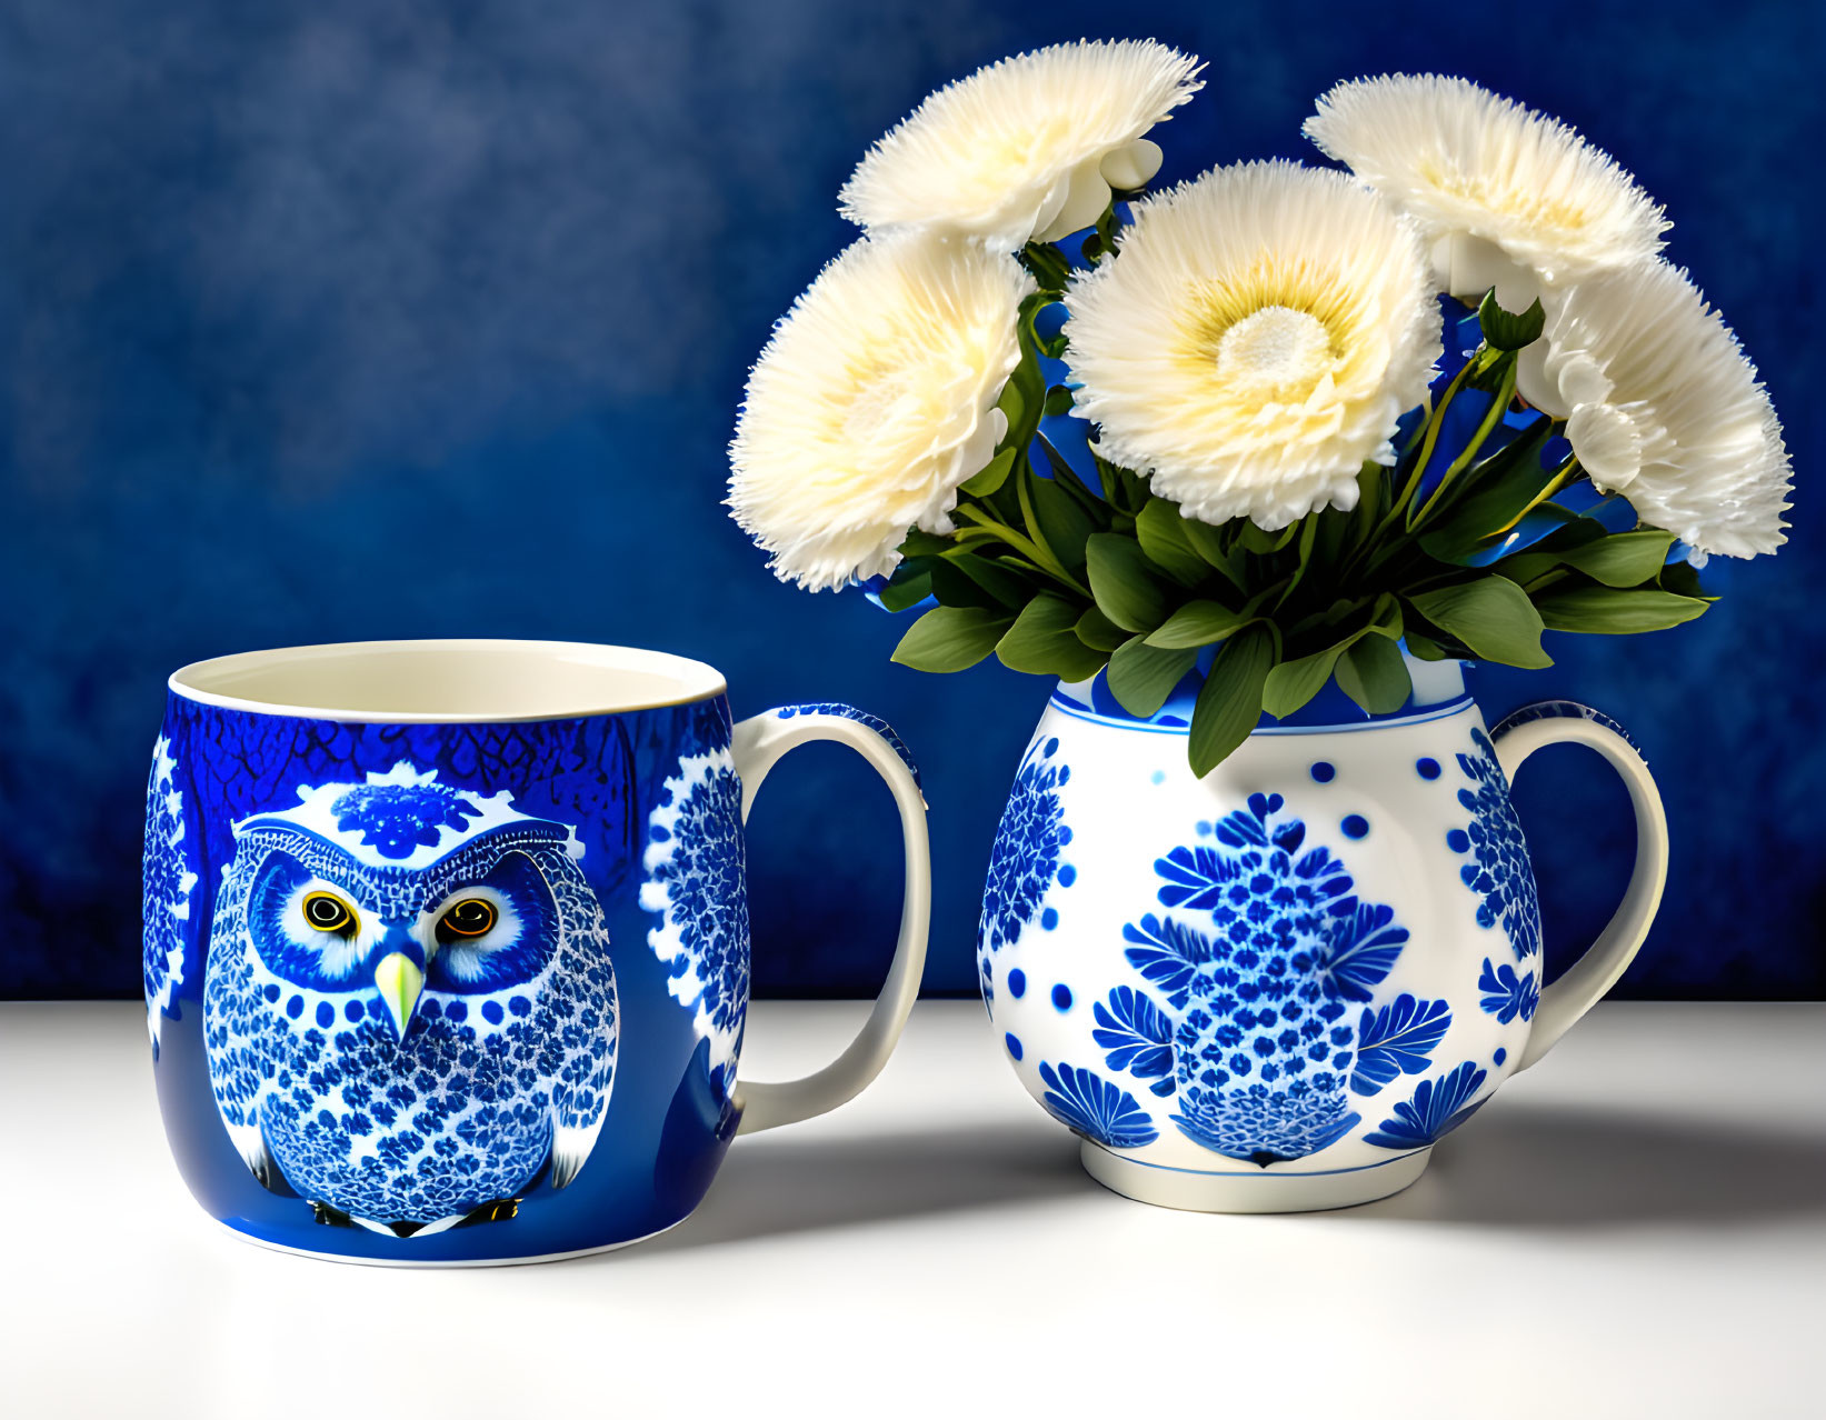
<svg viewBox="0 0 1826 1420"><path fill-rule="evenodd" d="M727 748L679 759L648 816L641 907L666 987L708 1040L710 1081L727 1097L749 1011L749 902L741 779Z"/></svg>

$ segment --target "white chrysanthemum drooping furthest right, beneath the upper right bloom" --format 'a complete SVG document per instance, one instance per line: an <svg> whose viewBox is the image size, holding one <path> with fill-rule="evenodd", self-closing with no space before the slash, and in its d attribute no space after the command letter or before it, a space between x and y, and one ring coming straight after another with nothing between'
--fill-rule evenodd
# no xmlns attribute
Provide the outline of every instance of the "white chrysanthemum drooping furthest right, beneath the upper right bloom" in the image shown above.
<svg viewBox="0 0 1826 1420"><path fill-rule="evenodd" d="M1521 354L1530 403L1567 420L1592 482L1702 553L1755 557L1788 538L1793 469L1757 367L1665 261L1547 292L1545 339Z"/></svg>

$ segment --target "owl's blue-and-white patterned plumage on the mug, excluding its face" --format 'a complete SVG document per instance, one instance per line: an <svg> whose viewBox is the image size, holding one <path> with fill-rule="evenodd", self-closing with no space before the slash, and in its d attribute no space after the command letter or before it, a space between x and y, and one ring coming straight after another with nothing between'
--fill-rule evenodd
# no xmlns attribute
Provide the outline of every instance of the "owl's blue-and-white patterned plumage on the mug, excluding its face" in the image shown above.
<svg viewBox="0 0 1826 1420"><path fill-rule="evenodd" d="M427 1223L515 1197L555 1152L568 1150L575 1172L608 1106L617 1022L603 909L564 841L559 825L522 821L407 871L354 863L270 821L245 830L217 896L205 980L210 1084L243 1155L270 1154L303 1199L378 1223ZM378 997L365 1000L373 980L351 986L365 1002L360 1018L345 1011L338 1022L334 1006L356 1002L327 991L309 1002L294 991L278 1011L248 913L270 851L382 920L416 920L502 854L524 852L551 889L559 942L540 975L515 987L526 1009L506 1026L488 1018L495 1000L478 1028L462 1000L427 987L396 1040Z"/></svg>

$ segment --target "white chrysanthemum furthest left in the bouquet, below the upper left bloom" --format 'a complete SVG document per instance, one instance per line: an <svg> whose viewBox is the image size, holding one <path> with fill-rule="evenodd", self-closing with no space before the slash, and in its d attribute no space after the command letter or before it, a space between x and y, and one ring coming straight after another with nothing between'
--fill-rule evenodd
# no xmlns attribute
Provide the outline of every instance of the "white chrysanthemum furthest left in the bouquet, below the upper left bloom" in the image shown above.
<svg viewBox="0 0 1826 1420"><path fill-rule="evenodd" d="M749 376L729 507L809 591L893 571L909 527L950 533L957 486L1008 431L1034 281L926 234L864 237L794 301Z"/></svg>

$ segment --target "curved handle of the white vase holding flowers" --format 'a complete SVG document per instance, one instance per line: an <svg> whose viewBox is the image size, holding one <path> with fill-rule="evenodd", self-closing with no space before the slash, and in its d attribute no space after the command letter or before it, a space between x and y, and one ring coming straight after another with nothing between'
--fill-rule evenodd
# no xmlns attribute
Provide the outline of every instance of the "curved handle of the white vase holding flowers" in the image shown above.
<svg viewBox="0 0 1826 1420"><path fill-rule="evenodd" d="M1490 745L1508 779L1514 779L1523 759L1543 745L1587 745L1609 759L1611 768L1623 778L1631 807L1636 810L1636 867L1623 889L1623 902L1579 960L1541 991L1528 1046L1516 1064L1521 1071L1547 1055L1554 1042L1616 986L1647 938L1654 911L1662 905L1662 889L1667 885L1667 812L1662 809L1662 794L1649 776L1642 750L1621 725L1589 706L1572 701L1528 705L1495 726Z"/></svg>

